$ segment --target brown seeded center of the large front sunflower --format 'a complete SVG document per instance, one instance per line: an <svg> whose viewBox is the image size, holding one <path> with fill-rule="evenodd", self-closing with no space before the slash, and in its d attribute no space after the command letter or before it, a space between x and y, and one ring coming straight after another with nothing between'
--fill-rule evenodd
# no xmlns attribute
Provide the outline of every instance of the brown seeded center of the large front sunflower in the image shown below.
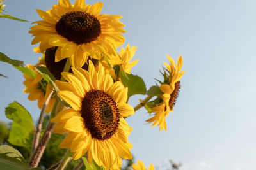
<svg viewBox="0 0 256 170"><path fill-rule="evenodd" d="M93 138L105 140L116 133L120 113L112 96L103 90L90 90L82 101L81 117Z"/></svg>

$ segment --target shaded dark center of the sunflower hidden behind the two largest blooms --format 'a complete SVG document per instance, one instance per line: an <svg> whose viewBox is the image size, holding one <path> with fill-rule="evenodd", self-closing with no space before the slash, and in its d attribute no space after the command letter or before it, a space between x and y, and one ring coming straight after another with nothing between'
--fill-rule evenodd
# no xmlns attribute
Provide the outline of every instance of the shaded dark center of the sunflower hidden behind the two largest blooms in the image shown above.
<svg viewBox="0 0 256 170"><path fill-rule="evenodd" d="M45 51L45 65L47 69L52 73L52 75L56 78L56 80L60 80L61 72L63 71L67 59L60 60L59 62L55 62L55 53L57 50L57 46L52 48L47 48ZM92 60L93 64L96 64L98 60L89 57L89 60ZM88 71L88 62L84 64L83 69ZM72 73L72 69L69 70Z"/></svg>

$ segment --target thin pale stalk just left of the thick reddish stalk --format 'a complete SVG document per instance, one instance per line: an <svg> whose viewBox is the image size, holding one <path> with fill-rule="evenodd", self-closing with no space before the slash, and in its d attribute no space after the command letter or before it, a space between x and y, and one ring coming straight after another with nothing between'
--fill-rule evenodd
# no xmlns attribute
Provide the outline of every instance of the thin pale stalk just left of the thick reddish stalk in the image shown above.
<svg viewBox="0 0 256 170"><path fill-rule="evenodd" d="M41 132L42 124L43 124L43 121L44 121L44 113L45 113L47 105L48 105L48 103L51 99L52 94L53 94L53 91L51 92L51 94L49 94L49 96L47 97L46 101L43 104L43 107L42 107L42 110L41 110L41 113L40 113L40 117L39 117L39 120L38 120L38 123L37 123L35 136L34 136L34 139L33 139L33 145L32 145L32 149L31 149L31 153L33 153L35 151L35 148L38 146L38 141L39 141L39 138L40 138L40 132Z"/></svg>

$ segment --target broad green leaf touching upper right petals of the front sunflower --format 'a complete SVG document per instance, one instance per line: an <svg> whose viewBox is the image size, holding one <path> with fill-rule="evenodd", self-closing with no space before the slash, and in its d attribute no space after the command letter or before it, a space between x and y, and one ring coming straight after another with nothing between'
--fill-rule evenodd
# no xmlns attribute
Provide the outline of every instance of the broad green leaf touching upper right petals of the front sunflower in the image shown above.
<svg viewBox="0 0 256 170"><path fill-rule="evenodd" d="M120 78L124 86L128 87L129 97L134 94L146 94L146 85L141 77L121 71Z"/></svg>

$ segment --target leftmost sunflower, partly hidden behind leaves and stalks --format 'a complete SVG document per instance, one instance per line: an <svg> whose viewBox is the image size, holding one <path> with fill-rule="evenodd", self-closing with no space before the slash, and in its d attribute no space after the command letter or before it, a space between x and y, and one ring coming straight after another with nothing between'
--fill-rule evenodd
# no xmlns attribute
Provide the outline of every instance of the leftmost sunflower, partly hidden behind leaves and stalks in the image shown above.
<svg viewBox="0 0 256 170"><path fill-rule="evenodd" d="M23 84L26 86L24 89L25 93L29 93L28 99L31 101L37 101L38 108L42 109L44 102L46 101L49 94L52 92L52 85L47 83L42 76L35 71L34 66L32 64L27 64L26 67L33 70L36 73L35 77L29 76L27 74L23 74L25 81ZM45 109L46 113L49 113L52 110L54 104L55 97L52 95L47 107Z"/></svg>

